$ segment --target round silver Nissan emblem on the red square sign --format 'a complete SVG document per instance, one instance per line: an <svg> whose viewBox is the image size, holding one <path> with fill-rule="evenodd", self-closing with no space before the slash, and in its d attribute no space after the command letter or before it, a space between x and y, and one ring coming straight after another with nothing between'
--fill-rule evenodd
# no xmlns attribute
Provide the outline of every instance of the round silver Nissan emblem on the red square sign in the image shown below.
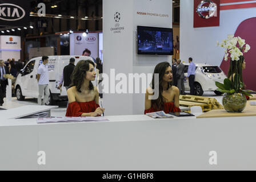
<svg viewBox="0 0 256 182"><path fill-rule="evenodd" d="M205 19L217 16L217 5L211 0L203 0L197 6L197 14Z"/></svg>

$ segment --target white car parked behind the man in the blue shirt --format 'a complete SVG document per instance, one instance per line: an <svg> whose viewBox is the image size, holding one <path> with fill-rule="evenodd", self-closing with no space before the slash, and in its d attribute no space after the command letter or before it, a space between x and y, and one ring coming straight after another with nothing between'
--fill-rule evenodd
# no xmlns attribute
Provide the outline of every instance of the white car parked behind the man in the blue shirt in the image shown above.
<svg viewBox="0 0 256 182"><path fill-rule="evenodd" d="M185 65L185 77L187 76L187 69L189 63L183 63ZM222 92L217 91L215 81L222 82L227 78L225 73L217 65L208 64L195 64L195 94L202 96L203 92L213 91L218 96ZM189 80L184 81L185 91L190 91Z"/></svg>

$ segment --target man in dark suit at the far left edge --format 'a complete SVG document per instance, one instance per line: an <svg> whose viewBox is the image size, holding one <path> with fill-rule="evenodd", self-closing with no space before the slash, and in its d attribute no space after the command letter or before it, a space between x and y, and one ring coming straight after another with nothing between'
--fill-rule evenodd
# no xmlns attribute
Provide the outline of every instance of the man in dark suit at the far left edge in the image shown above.
<svg viewBox="0 0 256 182"><path fill-rule="evenodd" d="M8 85L8 79L4 76L9 74L9 69L5 67L5 62L0 60L0 106L3 105L3 98L6 97L6 86Z"/></svg>

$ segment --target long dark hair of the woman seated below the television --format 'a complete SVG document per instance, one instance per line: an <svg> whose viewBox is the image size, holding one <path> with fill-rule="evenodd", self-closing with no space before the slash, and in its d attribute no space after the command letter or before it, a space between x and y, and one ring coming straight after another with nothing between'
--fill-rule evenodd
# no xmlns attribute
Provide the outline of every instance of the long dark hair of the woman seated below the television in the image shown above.
<svg viewBox="0 0 256 182"><path fill-rule="evenodd" d="M152 89L155 89L155 86L156 86L155 84L158 84L158 86L159 86L158 98L156 100L151 101L151 105L156 110L158 110L158 109L164 110L165 109L166 98L164 98L162 96L162 93L163 93L162 82L163 82L163 76L165 75L166 68L168 68L168 67L171 67L170 63L162 62L162 63L157 64L154 69L154 74L156 74L156 73L159 74L159 80L154 80L155 78L154 78L154 74L153 74L153 78L151 81ZM169 89L171 86L173 86L173 81L168 82L167 89Z"/></svg>

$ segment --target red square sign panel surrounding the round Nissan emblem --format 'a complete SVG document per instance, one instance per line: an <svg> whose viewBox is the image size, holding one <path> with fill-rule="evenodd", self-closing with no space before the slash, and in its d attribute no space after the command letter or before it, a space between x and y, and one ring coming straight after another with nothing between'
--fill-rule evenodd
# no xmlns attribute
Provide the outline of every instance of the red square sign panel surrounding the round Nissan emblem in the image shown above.
<svg viewBox="0 0 256 182"><path fill-rule="evenodd" d="M197 6L201 1L202 0L194 0L194 28L219 26L220 0L211 0L217 5L217 16L213 16L209 19L202 18L197 14Z"/></svg>

